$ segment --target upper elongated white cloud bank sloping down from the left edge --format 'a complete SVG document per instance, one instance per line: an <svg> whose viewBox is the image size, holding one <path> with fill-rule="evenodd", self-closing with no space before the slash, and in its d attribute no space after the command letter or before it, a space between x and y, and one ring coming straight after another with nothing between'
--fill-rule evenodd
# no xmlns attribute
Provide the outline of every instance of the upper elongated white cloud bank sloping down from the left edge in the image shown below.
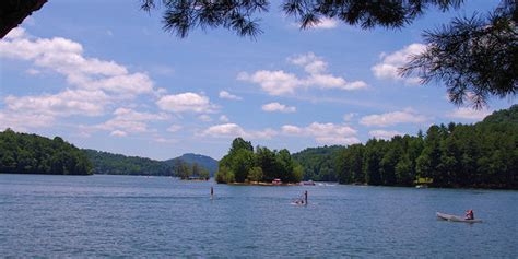
<svg viewBox="0 0 518 259"><path fill-rule="evenodd" d="M83 46L71 39L32 37L23 28L0 42L0 58L32 61L83 90L107 91L125 98L153 91L153 82L144 73L129 73L115 61L86 58Z"/></svg>

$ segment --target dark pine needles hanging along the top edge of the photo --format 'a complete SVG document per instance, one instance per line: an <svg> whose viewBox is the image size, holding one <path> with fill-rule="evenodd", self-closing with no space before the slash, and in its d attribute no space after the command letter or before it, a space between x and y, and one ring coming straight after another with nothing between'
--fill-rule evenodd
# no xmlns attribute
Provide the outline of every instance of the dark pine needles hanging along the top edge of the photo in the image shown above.
<svg viewBox="0 0 518 259"><path fill-rule="evenodd" d="M374 26L402 27L436 7L442 11L458 8L461 0L413 0L413 1L317 1L284 0L281 2L284 15L295 17L302 28L311 27L322 19L337 19L363 28ZM267 0L228 1L168 1L141 0L142 9L150 11L160 3L164 7L164 28L179 37L186 37L197 27L223 27L239 36L256 37L262 31L256 15L267 12ZM278 4L278 3L275 3Z"/></svg>

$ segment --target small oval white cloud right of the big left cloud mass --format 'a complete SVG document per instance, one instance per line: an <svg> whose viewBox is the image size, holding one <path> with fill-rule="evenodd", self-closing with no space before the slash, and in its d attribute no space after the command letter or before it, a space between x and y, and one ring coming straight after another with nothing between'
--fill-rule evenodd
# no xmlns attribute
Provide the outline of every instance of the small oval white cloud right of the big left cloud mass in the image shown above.
<svg viewBox="0 0 518 259"><path fill-rule="evenodd" d="M156 105L163 110L174 113L215 113L217 106L211 104L209 97L203 94L196 93L181 93L176 95L164 95L157 102Z"/></svg>

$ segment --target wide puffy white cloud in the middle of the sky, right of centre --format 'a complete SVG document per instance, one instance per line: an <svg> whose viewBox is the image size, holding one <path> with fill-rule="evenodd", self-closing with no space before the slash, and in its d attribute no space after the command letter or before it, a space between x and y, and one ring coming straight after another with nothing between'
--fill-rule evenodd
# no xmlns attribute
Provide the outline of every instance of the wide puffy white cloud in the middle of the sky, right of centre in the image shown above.
<svg viewBox="0 0 518 259"><path fill-rule="evenodd" d="M240 72L237 80L259 84L261 89L270 95L294 94L301 87L358 90L367 84L363 81L348 82L341 76L335 76L327 72L328 63L313 52L287 58L287 62L301 67L307 73L306 78L298 78L296 74L283 70L269 71L259 70L252 74Z"/></svg>

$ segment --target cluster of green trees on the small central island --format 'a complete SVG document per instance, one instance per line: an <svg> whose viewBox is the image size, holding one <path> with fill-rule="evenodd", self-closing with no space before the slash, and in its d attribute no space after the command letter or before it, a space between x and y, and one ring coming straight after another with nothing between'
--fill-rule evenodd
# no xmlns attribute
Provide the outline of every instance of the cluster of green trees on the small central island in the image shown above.
<svg viewBox="0 0 518 259"><path fill-rule="evenodd" d="M251 142L236 138L231 150L220 161L215 175L217 183L245 183L281 179L283 183L298 183L303 167L296 163L286 149L271 151L264 146L254 150Z"/></svg>

